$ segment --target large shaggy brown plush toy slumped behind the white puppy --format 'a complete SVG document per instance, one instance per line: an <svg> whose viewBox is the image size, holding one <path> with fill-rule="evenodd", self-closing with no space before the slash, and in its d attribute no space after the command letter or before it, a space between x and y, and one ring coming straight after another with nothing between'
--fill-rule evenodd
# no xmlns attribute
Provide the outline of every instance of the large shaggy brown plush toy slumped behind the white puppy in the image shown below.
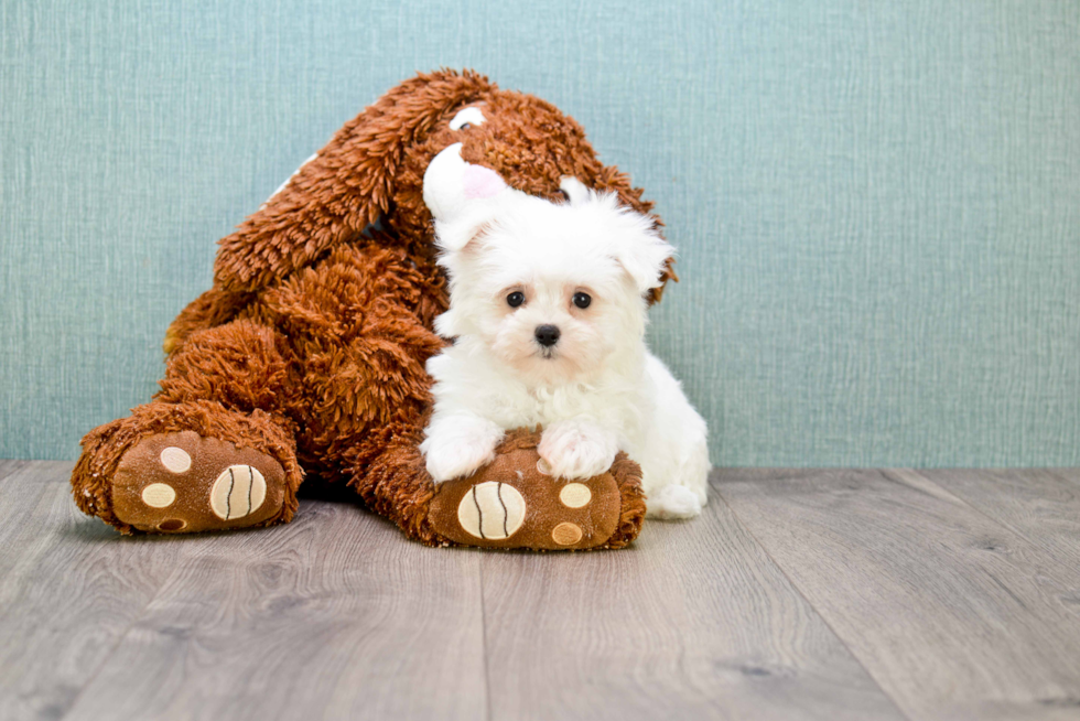
<svg viewBox="0 0 1080 721"><path fill-rule="evenodd" d="M126 534L270 526L292 518L310 474L429 545L633 540L645 498L625 456L568 483L541 473L539 435L521 429L469 478L436 488L424 470L424 363L446 292L423 176L454 143L526 193L559 200L572 175L651 209L550 104L467 71L402 83L220 240L214 287L165 335L161 390L83 439L78 507Z"/></svg>

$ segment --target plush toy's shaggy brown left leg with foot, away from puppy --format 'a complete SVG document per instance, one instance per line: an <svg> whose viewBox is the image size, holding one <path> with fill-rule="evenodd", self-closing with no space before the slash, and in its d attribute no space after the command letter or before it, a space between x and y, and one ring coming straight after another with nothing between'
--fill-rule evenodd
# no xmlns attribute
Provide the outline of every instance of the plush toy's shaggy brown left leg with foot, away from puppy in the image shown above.
<svg viewBox="0 0 1080 721"><path fill-rule="evenodd" d="M76 504L123 532L290 520L303 477L289 416L294 376L271 329L234 321L193 333L152 402L83 439Z"/></svg>

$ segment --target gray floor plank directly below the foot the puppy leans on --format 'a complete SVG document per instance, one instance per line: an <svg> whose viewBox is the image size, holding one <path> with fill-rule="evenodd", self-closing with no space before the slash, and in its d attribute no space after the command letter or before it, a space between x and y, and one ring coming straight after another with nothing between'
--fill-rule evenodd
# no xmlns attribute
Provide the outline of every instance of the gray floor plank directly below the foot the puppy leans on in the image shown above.
<svg viewBox="0 0 1080 721"><path fill-rule="evenodd" d="M493 718L903 718L721 498L626 552L483 570Z"/></svg>

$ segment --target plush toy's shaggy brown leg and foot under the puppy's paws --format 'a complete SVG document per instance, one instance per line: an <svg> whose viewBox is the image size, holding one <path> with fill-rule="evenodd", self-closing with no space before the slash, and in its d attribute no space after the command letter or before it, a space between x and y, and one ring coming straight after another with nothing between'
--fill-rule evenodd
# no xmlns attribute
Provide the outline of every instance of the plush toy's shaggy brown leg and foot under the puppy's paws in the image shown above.
<svg viewBox="0 0 1080 721"><path fill-rule="evenodd" d="M375 510L429 545L574 550L622 548L645 520L641 471L619 453L583 481L548 474L528 429L507 433L496 459L467 478L435 485L420 453L423 424L400 423L365 444L354 484ZM359 470L359 469L358 469Z"/></svg>

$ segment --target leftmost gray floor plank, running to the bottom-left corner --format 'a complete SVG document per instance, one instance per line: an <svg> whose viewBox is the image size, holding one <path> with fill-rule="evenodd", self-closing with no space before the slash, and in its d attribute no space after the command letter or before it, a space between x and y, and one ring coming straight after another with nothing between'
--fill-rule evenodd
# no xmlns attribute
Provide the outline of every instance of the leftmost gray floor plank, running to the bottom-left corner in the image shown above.
<svg viewBox="0 0 1080 721"><path fill-rule="evenodd" d="M0 718L61 718L183 549L87 524L69 473L22 464L0 482Z"/></svg>

